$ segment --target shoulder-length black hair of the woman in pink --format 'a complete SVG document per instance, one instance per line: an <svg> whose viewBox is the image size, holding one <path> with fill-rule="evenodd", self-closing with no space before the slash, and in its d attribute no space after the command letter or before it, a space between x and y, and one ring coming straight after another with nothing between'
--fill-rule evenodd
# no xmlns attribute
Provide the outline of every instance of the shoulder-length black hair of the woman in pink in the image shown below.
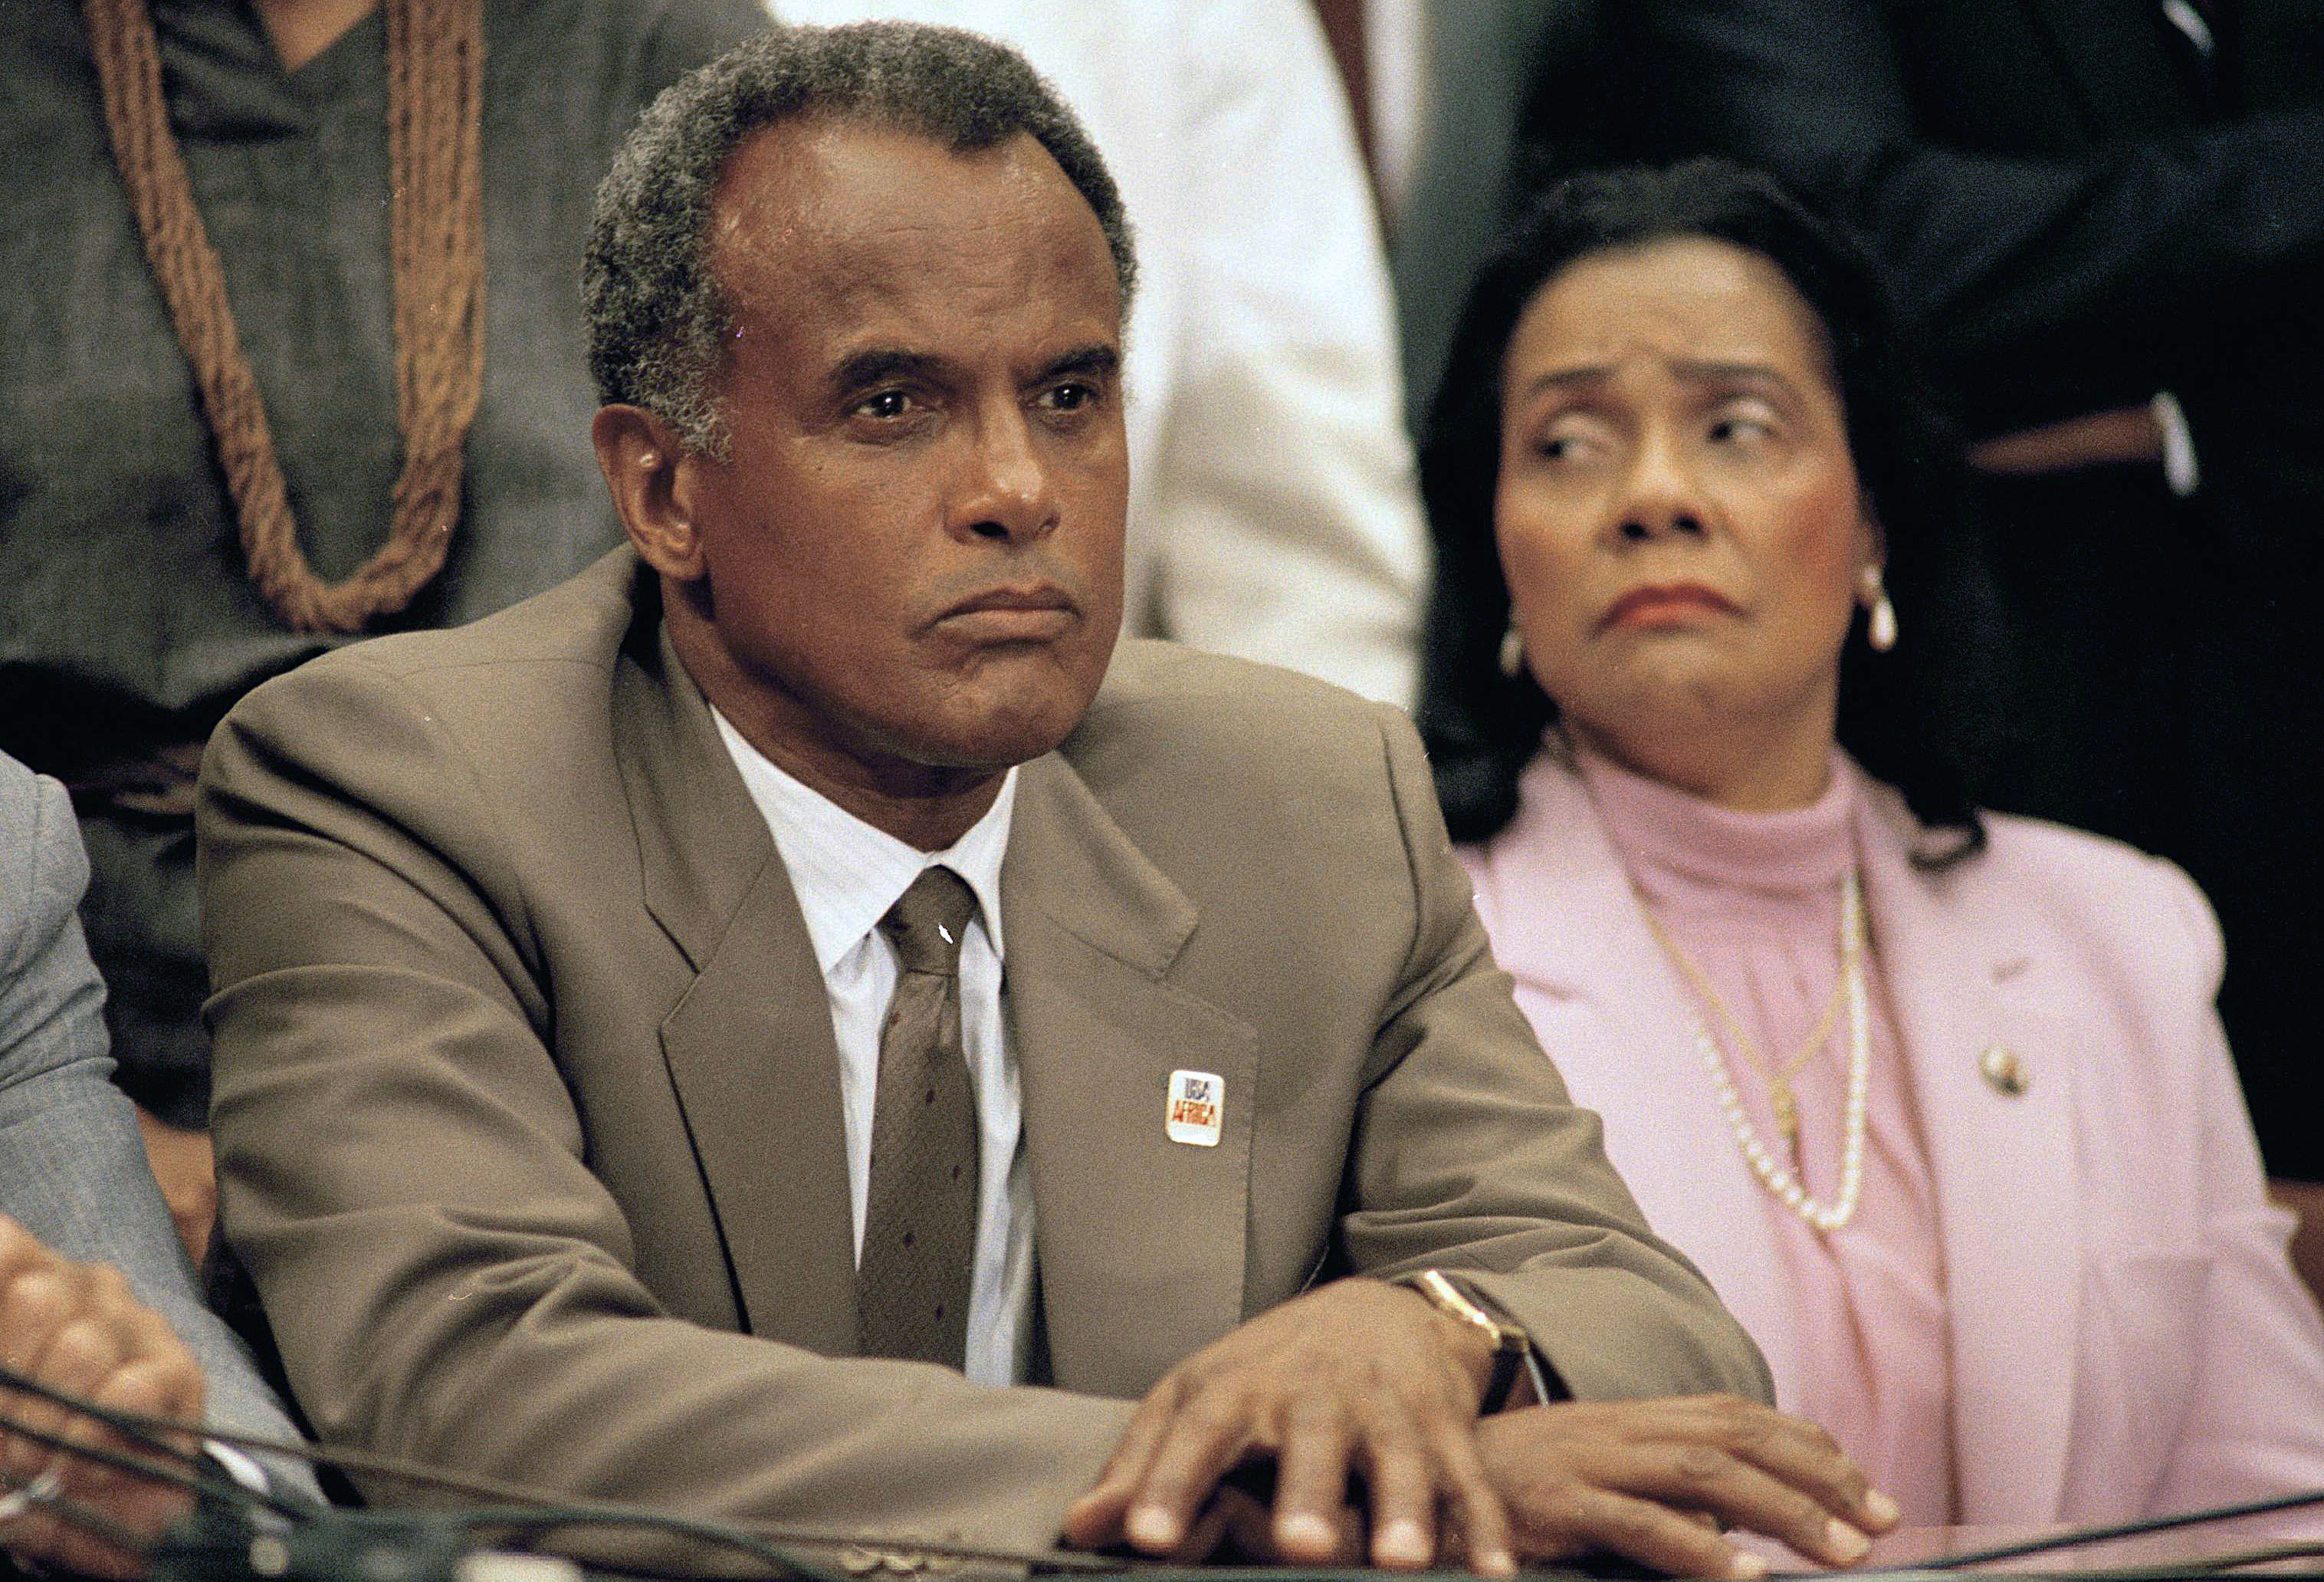
<svg viewBox="0 0 2324 1582"><path fill-rule="evenodd" d="M1420 493L1436 540L1420 677L1420 733L1455 840L1485 840L1518 812L1518 775L1557 705L1532 675L1501 675L1508 582L1494 544L1501 375L1534 295L1594 254L1710 237L1773 263L1822 321L1848 412L1848 451L1887 542L1887 591L1903 642L1875 654L1862 612L1841 651L1838 737L1896 786L1934 831L1957 833L1917 861L1985 847L1968 765L1987 712L1980 584L1957 521L1959 442L1906 354L1866 254L1773 179L1729 161L1566 177L1515 223L1469 291L1420 447ZM1985 721L1985 724L1978 724Z"/></svg>

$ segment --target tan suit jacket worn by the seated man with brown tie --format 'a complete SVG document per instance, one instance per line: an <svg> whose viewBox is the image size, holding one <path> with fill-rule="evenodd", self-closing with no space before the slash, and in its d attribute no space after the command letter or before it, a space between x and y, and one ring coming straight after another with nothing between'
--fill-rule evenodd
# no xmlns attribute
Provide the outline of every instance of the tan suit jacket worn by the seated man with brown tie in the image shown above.
<svg viewBox="0 0 2324 1582"><path fill-rule="evenodd" d="M627 551L270 682L202 779L225 1224L325 1438L709 1517L1041 1545L1174 1361L1476 1270L1578 1396L1766 1373L1566 1103L1394 710L1125 644L1002 870L1062 1389L853 1345L839 1056ZM1225 1079L1169 1142L1178 1068Z"/></svg>

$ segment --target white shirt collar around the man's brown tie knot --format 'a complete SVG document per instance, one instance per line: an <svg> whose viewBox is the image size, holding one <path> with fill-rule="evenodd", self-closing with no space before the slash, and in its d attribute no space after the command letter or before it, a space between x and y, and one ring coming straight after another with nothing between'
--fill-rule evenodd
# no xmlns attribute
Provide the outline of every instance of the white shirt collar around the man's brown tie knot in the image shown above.
<svg viewBox="0 0 2324 1582"><path fill-rule="evenodd" d="M902 898L923 868L944 863L976 891L978 921L1002 952L1002 858L1009 854L1009 826L1016 819L1016 768L1002 775L1002 791L967 833L944 851L920 851L883 828L865 824L846 807L779 770L767 754L741 737L741 731L716 707L718 737L741 770L741 784L758 803L774 849L790 872L790 889L806 919L806 938L816 947L816 965L832 965L855 949L878 926L888 907Z"/></svg>

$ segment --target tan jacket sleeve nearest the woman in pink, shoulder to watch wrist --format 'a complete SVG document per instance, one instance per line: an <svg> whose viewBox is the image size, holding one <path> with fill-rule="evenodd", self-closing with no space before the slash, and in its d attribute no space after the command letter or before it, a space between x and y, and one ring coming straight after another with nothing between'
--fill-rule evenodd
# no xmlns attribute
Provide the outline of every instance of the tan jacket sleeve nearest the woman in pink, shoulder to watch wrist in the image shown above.
<svg viewBox="0 0 2324 1582"><path fill-rule="evenodd" d="M1348 1156L1350 1263L1443 1268L1532 1338L1580 1401L1773 1401L1759 1349L1638 1212L1511 998L1411 726L1383 710L1411 861L1413 952Z"/></svg>

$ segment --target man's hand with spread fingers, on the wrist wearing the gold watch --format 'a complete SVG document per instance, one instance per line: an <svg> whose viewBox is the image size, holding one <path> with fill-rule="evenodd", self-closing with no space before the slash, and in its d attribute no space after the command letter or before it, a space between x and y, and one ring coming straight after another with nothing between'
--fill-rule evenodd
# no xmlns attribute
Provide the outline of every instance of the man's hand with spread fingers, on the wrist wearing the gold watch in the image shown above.
<svg viewBox="0 0 2324 1582"><path fill-rule="evenodd" d="M1457 1519L1469 1563L1515 1573L1508 1515L1476 1442L1483 1345L1420 1296L1339 1280L1271 1307L1171 1368L1146 1396L1097 1487L1064 1517L1064 1540L1197 1559L1220 1538L1301 1566L1436 1556L1436 1510ZM1222 1480L1274 1466L1264 1531L1250 1496ZM1350 1512L1348 1477L1362 1477ZM1262 1540L1264 1542L1257 1542Z"/></svg>

